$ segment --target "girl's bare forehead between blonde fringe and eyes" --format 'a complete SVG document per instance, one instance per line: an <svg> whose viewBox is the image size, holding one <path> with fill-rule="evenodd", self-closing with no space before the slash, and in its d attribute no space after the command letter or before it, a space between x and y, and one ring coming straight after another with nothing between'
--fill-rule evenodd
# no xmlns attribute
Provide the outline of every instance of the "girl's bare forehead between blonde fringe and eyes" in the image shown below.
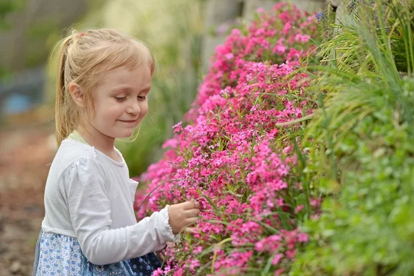
<svg viewBox="0 0 414 276"><path fill-rule="evenodd" d="M132 89L144 89L151 85L150 67L141 65L136 68L117 67L99 75L97 87L117 88L126 86Z"/></svg>

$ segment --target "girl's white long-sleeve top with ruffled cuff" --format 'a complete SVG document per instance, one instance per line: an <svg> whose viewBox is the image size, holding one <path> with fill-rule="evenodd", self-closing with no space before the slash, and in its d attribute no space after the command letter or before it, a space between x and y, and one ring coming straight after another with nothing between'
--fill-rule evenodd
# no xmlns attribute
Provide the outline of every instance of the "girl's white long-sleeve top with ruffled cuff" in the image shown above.
<svg viewBox="0 0 414 276"><path fill-rule="evenodd" d="M77 238L92 264L146 255L174 239L168 206L137 223L133 201L138 182L128 166L80 141L62 141L45 189L45 233Z"/></svg>

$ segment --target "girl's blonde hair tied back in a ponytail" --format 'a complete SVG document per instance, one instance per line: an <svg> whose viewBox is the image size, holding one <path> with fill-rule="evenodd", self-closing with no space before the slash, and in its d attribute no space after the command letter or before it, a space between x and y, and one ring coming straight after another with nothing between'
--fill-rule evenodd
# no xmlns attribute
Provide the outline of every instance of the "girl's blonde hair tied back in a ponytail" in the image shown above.
<svg viewBox="0 0 414 276"><path fill-rule="evenodd" d="M150 66L151 75L155 70L154 57L148 47L117 30L72 30L68 37L57 43L53 52L57 49L59 68L55 130L58 146L79 124L81 108L70 95L70 83L77 83L85 92L83 109L90 114L94 110L91 90L97 84L100 73L119 66L133 69L142 64Z"/></svg>

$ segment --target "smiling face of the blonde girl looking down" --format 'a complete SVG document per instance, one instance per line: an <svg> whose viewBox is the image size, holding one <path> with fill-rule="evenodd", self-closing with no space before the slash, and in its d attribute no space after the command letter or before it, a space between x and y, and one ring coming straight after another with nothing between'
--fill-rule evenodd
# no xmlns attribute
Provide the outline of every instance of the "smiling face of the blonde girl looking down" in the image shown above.
<svg viewBox="0 0 414 276"><path fill-rule="evenodd" d="M148 66L119 67L102 74L92 89L95 114L90 124L106 137L130 137L148 112L150 89Z"/></svg>

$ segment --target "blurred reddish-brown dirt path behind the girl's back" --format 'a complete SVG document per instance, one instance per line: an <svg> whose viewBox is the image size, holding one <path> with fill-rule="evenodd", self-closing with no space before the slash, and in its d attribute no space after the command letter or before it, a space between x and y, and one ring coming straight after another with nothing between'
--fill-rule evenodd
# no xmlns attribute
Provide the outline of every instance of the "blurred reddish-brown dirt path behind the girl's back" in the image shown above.
<svg viewBox="0 0 414 276"><path fill-rule="evenodd" d="M50 144L43 126L0 130L0 276L32 275Z"/></svg>

